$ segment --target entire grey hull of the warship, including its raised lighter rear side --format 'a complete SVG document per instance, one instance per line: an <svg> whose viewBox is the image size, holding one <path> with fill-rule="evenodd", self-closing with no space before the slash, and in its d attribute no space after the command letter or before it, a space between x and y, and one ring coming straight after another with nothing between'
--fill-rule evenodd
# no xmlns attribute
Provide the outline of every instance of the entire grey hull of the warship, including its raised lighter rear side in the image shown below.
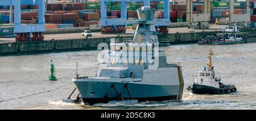
<svg viewBox="0 0 256 121"><path fill-rule="evenodd" d="M181 67L152 70L144 72L144 76L144 79L92 77L73 81L82 100L89 105L121 100L118 93L124 100L130 100L132 97L139 102L181 100L184 85Z"/></svg>

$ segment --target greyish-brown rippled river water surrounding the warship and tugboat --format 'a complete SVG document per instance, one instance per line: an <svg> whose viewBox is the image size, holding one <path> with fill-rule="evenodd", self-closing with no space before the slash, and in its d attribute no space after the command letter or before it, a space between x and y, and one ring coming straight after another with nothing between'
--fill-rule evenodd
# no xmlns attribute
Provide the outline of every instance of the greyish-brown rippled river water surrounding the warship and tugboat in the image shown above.
<svg viewBox="0 0 256 121"><path fill-rule="evenodd" d="M222 83L235 84L237 93L201 95L185 89L203 64L207 64L209 47L213 48L216 75ZM74 51L0 57L0 109L256 109L256 44L187 44L162 49L166 50L168 61L181 63L185 83L181 101L94 106L63 103L61 100L75 88L71 80L75 77L76 62L81 75L94 76L97 71L100 51ZM51 59L57 81L47 81Z"/></svg>

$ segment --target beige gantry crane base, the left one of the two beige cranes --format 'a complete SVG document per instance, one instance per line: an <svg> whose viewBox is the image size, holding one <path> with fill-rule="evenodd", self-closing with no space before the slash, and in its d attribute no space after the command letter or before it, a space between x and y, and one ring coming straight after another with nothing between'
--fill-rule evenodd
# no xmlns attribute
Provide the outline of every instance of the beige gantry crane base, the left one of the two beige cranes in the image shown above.
<svg viewBox="0 0 256 121"><path fill-rule="evenodd" d="M187 0L187 14L186 19L189 23L188 28L206 29L209 28L210 21L210 0L203 1L203 14L193 14L193 1Z"/></svg>

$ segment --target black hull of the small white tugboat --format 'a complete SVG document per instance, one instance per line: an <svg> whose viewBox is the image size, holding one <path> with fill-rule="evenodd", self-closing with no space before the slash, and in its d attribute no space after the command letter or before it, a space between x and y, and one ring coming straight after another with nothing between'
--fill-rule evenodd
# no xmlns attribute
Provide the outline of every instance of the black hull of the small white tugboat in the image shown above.
<svg viewBox="0 0 256 121"><path fill-rule="evenodd" d="M192 84L187 90L194 94L225 94L237 92L237 88L234 85L222 85L221 88L214 88L206 85Z"/></svg>

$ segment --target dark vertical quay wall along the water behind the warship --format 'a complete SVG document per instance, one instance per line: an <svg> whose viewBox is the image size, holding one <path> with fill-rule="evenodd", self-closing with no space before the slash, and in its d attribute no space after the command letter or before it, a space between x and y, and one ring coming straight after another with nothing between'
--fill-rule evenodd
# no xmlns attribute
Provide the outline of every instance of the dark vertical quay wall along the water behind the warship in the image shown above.
<svg viewBox="0 0 256 121"><path fill-rule="evenodd" d="M217 31L216 31L217 32ZM171 44L191 44L196 43L202 37L216 32L195 32L195 33L168 33L158 35L159 41ZM0 44L1 55L19 54L40 54L60 51L75 50L96 50L98 44L110 43L110 38L118 38L121 41L132 40L133 35L99 38L78 38L71 40L50 40L50 41L30 41L30 42L9 42Z"/></svg>

